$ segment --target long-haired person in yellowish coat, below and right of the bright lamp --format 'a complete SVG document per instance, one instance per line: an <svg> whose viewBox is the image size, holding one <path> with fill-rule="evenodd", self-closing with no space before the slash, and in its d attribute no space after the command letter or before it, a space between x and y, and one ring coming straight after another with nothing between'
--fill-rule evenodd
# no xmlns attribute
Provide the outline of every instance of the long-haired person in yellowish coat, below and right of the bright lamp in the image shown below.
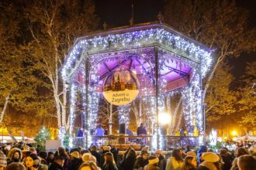
<svg viewBox="0 0 256 170"><path fill-rule="evenodd" d="M171 153L171 158L168 159L166 170L181 170L183 164L182 151L175 149Z"/></svg>

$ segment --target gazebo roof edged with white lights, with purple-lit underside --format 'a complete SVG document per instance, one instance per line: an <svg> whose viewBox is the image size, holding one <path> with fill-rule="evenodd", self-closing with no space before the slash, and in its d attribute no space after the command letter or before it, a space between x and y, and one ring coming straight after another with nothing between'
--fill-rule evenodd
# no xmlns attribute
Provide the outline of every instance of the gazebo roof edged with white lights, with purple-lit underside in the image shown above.
<svg viewBox="0 0 256 170"><path fill-rule="evenodd" d="M119 66L120 63L122 63L123 68L133 69L140 73L140 65L147 59L135 57L137 50L147 55L147 53L152 53L154 47L162 49L166 53L171 53L167 58L168 66L166 66L169 71L171 69L171 72L167 70L166 73L163 71L160 73L167 77L165 79L168 82L178 80L179 77L177 75L189 77L192 73L192 66L189 66L188 63L202 64L202 76L210 66L211 50L206 46L184 36L164 23L147 22L134 26L123 26L105 31L91 32L86 36L79 37L74 42L70 53L68 53L62 70L62 76L64 80L69 81L74 73L79 72L85 57L95 57L95 59L92 59L92 63L96 63L99 61L98 56L104 55L109 56L109 58L119 59L102 60L101 65L98 66L99 70L96 71L97 76L102 77L102 79L108 72L116 69L116 66ZM150 50L151 52L147 52ZM124 53L130 58L122 58ZM130 53L135 53L135 56L131 56ZM177 56L183 62L175 63L173 59L177 58ZM145 68L142 69L147 70ZM98 85L102 86L102 79L93 80L92 83L98 83Z"/></svg>

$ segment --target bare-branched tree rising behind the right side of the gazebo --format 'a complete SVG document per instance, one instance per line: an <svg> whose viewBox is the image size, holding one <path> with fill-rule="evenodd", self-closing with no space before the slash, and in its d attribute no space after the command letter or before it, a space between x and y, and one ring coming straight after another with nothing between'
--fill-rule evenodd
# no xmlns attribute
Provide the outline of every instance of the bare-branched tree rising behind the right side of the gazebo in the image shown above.
<svg viewBox="0 0 256 170"><path fill-rule="evenodd" d="M256 49L256 30L247 25L248 11L235 1L168 1L164 20L185 35L214 49L216 62L209 73L203 99L218 66L227 58Z"/></svg>

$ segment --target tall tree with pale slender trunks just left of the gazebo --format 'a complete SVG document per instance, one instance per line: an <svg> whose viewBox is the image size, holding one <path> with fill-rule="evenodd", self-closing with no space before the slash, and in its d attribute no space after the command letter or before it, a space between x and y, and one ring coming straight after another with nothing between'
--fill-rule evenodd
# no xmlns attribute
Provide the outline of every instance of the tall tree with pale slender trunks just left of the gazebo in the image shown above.
<svg viewBox="0 0 256 170"><path fill-rule="evenodd" d="M23 9L32 36L27 53L45 87L53 93L57 127L67 129L67 86L61 81L60 70L74 39L97 26L93 2L31 0Z"/></svg>

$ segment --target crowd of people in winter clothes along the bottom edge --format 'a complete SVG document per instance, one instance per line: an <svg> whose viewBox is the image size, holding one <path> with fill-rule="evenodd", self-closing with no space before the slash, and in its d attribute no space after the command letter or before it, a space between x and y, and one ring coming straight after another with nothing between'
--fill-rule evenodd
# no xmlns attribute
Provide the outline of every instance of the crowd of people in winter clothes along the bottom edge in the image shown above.
<svg viewBox="0 0 256 170"><path fill-rule="evenodd" d="M198 151L174 149L171 157L161 150L141 151L128 148L122 155L111 145L97 148L58 148L57 151L39 151L19 143L6 145L0 151L0 170L255 170L256 148L238 147L232 155L227 148L217 153L201 146Z"/></svg>

